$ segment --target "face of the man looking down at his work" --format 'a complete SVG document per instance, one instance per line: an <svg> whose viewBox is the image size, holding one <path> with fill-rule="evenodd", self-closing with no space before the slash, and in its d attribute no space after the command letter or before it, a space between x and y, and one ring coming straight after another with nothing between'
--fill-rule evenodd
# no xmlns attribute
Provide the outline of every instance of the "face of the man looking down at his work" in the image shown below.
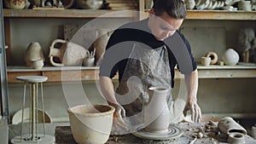
<svg viewBox="0 0 256 144"><path fill-rule="evenodd" d="M166 13L156 16L154 12L153 14L149 12L148 26L154 37L159 41L172 36L182 23L183 19L174 19Z"/></svg>

